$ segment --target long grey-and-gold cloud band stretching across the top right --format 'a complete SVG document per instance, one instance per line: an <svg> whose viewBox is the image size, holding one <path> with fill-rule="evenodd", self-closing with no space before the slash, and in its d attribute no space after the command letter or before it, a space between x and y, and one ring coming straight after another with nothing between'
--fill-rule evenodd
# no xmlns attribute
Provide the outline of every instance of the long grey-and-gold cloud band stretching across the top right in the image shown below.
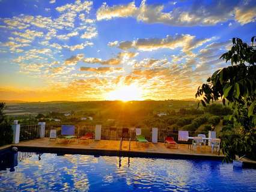
<svg viewBox="0 0 256 192"><path fill-rule="evenodd" d="M112 7L103 3L97 10L97 20L134 17L139 22L174 26L216 25L227 20L236 20L243 25L254 22L256 5L254 1L213 1L201 5L194 1L186 8L174 7L169 12L163 12L164 8L164 5L148 5L145 0L141 1L139 7L136 7L134 1Z"/></svg>

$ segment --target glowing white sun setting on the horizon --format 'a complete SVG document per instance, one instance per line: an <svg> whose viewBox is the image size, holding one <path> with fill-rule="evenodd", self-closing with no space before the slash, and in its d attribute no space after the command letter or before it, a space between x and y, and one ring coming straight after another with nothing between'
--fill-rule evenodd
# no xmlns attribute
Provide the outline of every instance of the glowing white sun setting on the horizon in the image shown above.
<svg viewBox="0 0 256 192"><path fill-rule="evenodd" d="M106 94L106 100L134 101L142 100L142 89L136 85L119 86Z"/></svg>

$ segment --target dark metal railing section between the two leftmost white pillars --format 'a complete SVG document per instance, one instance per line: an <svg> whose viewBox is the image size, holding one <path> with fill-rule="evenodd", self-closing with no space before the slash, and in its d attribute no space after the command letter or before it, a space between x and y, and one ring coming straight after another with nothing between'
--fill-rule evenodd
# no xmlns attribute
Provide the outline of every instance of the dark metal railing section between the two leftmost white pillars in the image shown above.
<svg viewBox="0 0 256 192"><path fill-rule="evenodd" d="M37 139L40 137L40 125L21 125L20 140Z"/></svg>

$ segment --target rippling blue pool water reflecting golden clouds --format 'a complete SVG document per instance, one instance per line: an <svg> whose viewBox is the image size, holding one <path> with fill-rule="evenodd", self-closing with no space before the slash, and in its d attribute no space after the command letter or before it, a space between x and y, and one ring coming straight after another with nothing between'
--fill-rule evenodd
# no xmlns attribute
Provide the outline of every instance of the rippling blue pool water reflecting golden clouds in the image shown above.
<svg viewBox="0 0 256 192"><path fill-rule="evenodd" d="M27 152L12 161L0 191L256 191L255 169L221 161Z"/></svg>

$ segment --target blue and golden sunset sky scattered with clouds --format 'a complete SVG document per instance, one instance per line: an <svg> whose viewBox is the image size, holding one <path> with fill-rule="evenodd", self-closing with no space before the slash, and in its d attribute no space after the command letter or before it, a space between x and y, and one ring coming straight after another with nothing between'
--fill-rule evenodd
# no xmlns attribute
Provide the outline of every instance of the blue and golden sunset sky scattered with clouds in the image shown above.
<svg viewBox="0 0 256 192"><path fill-rule="evenodd" d="M0 100L195 98L256 1L0 0Z"/></svg>

